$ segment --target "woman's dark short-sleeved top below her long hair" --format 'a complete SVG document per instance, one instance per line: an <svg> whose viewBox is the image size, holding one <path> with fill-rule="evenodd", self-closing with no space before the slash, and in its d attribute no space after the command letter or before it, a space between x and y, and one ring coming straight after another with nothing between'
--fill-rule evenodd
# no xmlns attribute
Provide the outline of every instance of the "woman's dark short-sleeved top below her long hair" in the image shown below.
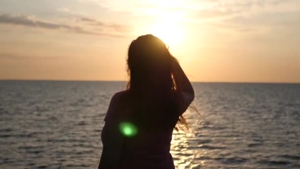
<svg viewBox="0 0 300 169"><path fill-rule="evenodd" d="M118 96L112 98L120 100ZM119 106L119 105L118 105ZM111 110L110 110L111 109ZM132 119L120 115L121 111L116 111L112 105L109 107L105 117L105 126L103 127L101 138L103 142L103 153L112 153L111 158L118 157L114 164L116 169L175 169L172 155L170 154L170 146L172 140L173 129L180 115L174 115L173 124L169 127L161 127L158 130L149 130L137 125L138 132L132 137L126 137L121 134L119 124L122 121L130 121ZM134 123L134 121L133 121ZM153 126L155 126L153 122ZM115 128L115 129L112 129ZM110 147L110 148L108 148ZM117 153L113 153L112 149L117 149ZM118 151L120 150L120 151ZM103 157L104 158L104 157ZM110 169L108 160L111 158L101 158L99 169Z"/></svg>

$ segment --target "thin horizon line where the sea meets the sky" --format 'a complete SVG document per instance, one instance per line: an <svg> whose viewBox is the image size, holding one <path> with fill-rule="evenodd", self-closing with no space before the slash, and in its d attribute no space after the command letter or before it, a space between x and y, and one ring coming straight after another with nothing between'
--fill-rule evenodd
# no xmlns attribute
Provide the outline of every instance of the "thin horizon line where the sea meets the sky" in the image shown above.
<svg viewBox="0 0 300 169"><path fill-rule="evenodd" d="M53 81L53 82L128 82L121 80L62 80L62 79L0 79L0 81ZM250 81L190 81L191 83L224 84L300 84L300 82L250 82Z"/></svg>

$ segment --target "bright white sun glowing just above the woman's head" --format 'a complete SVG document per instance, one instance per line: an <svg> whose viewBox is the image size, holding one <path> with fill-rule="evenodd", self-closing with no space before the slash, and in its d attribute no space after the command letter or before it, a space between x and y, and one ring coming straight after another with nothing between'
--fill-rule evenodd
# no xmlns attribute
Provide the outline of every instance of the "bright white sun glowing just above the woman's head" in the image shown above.
<svg viewBox="0 0 300 169"><path fill-rule="evenodd" d="M184 31L181 25L174 21L160 21L154 23L150 28L150 33L172 48L181 44L184 38Z"/></svg>

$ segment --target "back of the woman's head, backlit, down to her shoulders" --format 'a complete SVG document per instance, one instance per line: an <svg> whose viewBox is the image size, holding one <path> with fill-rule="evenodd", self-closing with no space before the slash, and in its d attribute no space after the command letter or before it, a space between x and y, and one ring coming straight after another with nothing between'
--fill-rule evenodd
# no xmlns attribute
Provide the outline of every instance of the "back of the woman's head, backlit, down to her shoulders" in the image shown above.
<svg viewBox="0 0 300 169"><path fill-rule="evenodd" d="M148 91L171 90L172 57L165 43L153 35L143 35L132 41L127 58L128 89L138 92L143 88Z"/></svg>

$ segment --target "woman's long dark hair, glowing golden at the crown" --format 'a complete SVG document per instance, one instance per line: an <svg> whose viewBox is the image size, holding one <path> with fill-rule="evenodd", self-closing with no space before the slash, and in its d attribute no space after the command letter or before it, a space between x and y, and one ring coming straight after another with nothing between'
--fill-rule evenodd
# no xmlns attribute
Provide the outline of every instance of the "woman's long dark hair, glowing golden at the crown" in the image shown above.
<svg viewBox="0 0 300 169"><path fill-rule="evenodd" d="M131 42L128 49L127 72L130 79L127 90L135 98L134 106L144 107L146 115L143 116L148 116L147 118L151 118L152 121L157 121L161 117L167 121L172 119L168 116L180 113L178 112L180 99L174 94L177 88L172 72L172 59L175 58L165 43L153 35L138 37ZM157 116L160 118L155 118ZM188 129L183 115L180 115L175 123L176 130Z"/></svg>

